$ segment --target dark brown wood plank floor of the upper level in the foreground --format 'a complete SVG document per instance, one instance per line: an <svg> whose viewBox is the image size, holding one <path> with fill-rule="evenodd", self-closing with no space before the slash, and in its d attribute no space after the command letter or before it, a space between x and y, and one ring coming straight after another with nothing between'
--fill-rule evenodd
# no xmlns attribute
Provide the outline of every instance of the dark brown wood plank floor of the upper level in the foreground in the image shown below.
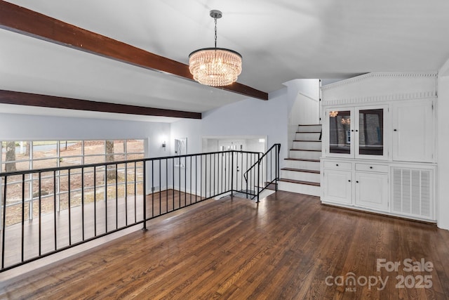
<svg viewBox="0 0 449 300"><path fill-rule="evenodd" d="M449 299L449 231L431 224L282 191L147 224L1 282L0 299Z"/></svg>

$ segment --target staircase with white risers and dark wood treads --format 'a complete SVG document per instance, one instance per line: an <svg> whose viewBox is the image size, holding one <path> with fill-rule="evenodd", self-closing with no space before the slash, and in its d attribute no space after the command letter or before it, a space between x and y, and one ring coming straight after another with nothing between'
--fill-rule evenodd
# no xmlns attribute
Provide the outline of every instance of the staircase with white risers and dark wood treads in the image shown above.
<svg viewBox="0 0 449 300"><path fill-rule="evenodd" d="M299 125L293 147L285 159L279 190L320 195L321 124Z"/></svg>

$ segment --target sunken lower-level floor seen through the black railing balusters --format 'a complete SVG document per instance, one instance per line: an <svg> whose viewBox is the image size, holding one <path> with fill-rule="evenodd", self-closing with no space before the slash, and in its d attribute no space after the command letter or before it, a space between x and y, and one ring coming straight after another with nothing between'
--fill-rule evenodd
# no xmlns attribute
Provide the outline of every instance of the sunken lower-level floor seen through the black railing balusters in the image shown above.
<svg viewBox="0 0 449 300"><path fill-rule="evenodd" d="M27 261L41 254L54 252L69 245L88 240L89 238L123 228L142 221L142 196L128 197L118 200L108 200L107 209L105 201L89 203L83 206L72 207L70 210L62 209L54 214L43 214L41 224L39 218L26 220L23 228L23 260ZM147 219L166 214L169 211L186 207L203 198L178 190L163 190L147 196ZM94 214L95 212L95 214ZM106 217L107 215L107 217ZM69 226L70 224L70 226ZM84 226L81 226L84 224ZM95 224L95 226L94 226ZM41 237L39 241L39 225ZM55 229L56 228L56 229ZM0 233L1 230L0 230ZM0 235L0 242L3 235ZM6 226L6 247L4 251L4 266L14 266L22 261L22 224L17 223ZM3 252L0 247L0 256Z"/></svg>

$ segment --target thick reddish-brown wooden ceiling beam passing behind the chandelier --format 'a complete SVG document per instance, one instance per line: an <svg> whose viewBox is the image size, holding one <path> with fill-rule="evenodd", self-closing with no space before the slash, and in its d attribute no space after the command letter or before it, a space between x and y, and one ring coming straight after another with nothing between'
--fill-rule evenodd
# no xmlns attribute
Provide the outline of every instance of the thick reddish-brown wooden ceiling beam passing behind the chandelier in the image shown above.
<svg viewBox="0 0 449 300"><path fill-rule="evenodd" d="M0 1L0 28L25 34L123 63L194 80L189 66L130 46L95 32L84 30L27 8ZM234 82L219 89L268 100L268 93Z"/></svg>

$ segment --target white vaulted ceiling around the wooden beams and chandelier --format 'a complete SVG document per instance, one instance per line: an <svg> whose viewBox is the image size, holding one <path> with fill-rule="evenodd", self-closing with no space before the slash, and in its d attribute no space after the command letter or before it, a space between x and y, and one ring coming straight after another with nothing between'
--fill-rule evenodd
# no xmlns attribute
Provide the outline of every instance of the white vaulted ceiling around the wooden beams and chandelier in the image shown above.
<svg viewBox="0 0 449 300"><path fill-rule="evenodd" d="M217 46L242 54L241 84L268 93L292 79L436 71L449 58L447 0L9 2L185 64L213 46L218 9ZM0 89L189 112L245 98L15 32L0 41Z"/></svg>

